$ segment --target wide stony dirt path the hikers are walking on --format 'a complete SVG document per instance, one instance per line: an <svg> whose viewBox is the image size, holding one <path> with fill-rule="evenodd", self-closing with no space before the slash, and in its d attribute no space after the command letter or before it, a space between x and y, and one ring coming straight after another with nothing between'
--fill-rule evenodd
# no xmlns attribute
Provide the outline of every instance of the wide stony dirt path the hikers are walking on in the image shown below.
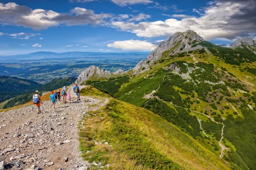
<svg viewBox="0 0 256 170"><path fill-rule="evenodd" d="M37 114L33 105L0 113L0 161L16 164L12 169L17 170L32 165L44 170L76 170L88 164L79 157L77 126L81 116L101 108L108 99L82 96L76 102L73 87L67 92L71 104L57 102L54 109L50 102L44 102L46 112L42 114Z"/></svg>

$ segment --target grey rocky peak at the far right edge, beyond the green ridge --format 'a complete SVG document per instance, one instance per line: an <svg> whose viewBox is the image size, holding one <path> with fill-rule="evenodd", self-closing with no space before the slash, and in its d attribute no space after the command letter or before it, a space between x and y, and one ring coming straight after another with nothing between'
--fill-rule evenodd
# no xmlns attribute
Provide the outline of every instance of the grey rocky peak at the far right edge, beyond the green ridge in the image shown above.
<svg viewBox="0 0 256 170"><path fill-rule="evenodd" d="M248 37L236 40L230 45L230 48L244 48L243 46L247 47L250 51L256 54L256 42L255 40Z"/></svg>

